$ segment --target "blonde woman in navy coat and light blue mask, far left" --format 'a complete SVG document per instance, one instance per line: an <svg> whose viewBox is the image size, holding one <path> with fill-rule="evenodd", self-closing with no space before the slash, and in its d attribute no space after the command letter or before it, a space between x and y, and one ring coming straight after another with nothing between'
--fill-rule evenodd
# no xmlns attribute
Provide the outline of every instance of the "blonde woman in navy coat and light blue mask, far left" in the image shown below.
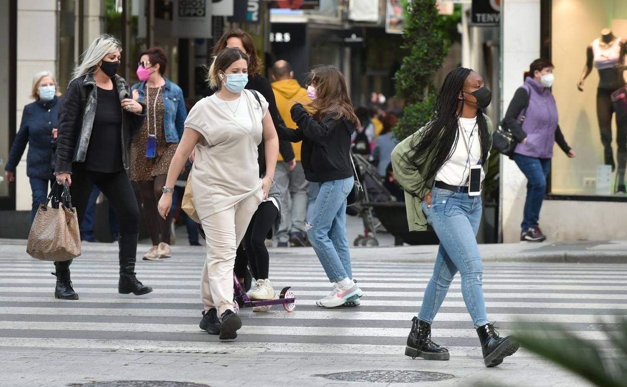
<svg viewBox="0 0 627 387"><path fill-rule="evenodd" d="M56 86L55 77L49 71L36 73L33 77L31 98L34 102L24 106L22 122L15 136L9 160L4 166L7 181L15 180L15 169L19 164L26 144L26 176L31 183L33 193L33 221L40 204L46 203L48 186L55 181L52 169L53 140L56 139L56 124L61 106L61 93Z"/></svg>

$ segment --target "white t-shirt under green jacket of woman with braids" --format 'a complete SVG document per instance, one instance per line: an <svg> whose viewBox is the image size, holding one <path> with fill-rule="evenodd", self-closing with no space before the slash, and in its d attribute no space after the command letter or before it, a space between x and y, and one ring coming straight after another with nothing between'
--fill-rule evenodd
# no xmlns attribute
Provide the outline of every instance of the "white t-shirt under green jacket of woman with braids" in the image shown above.
<svg viewBox="0 0 627 387"><path fill-rule="evenodd" d="M466 186L468 184L470 166L477 165L481 161L481 143L477 117L472 119L460 117L458 130L460 137L455 151L453 151L451 158L440 168L435 179L451 186ZM464 142L464 139L466 142ZM468 144L468 148L466 148L466 144ZM470 156L468 155L468 149L470 149ZM483 178L482 173L482 181Z"/></svg>

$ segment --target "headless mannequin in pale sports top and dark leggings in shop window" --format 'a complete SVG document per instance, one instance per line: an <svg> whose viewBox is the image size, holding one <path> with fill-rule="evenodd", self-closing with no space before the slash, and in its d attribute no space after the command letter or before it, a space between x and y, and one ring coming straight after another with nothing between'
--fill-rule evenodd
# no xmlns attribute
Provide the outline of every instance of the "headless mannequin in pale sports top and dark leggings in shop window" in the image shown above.
<svg viewBox="0 0 627 387"><path fill-rule="evenodd" d="M623 72L624 58L627 53L627 40L621 39L612 33L611 29L604 28L601 31L601 38L594 40L587 47L586 65L577 83L579 91L584 91L584 80L592 72L593 66L599 72L599 86L596 94L596 114L601 132L601 143L603 144L604 162L612 166L612 171L616 169L612 151L612 114L616 114L616 109L611 100L613 92L625 86ZM627 164L627 114L616 114L616 144L618 152L616 161L618 171L616 174L616 190L624 193L624 174Z"/></svg>

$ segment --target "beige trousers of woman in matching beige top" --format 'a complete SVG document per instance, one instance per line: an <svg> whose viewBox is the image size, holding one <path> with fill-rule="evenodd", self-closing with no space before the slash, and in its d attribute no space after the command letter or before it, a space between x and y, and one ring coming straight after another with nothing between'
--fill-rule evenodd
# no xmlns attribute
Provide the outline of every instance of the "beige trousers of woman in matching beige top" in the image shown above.
<svg viewBox="0 0 627 387"><path fill-rule="evenodd" d="M237 247L257 210L263 191L243 199L233 207L201 220L207 242L200 294L204 310L218 309L218 317L233 310L233 267Z"/></svg>

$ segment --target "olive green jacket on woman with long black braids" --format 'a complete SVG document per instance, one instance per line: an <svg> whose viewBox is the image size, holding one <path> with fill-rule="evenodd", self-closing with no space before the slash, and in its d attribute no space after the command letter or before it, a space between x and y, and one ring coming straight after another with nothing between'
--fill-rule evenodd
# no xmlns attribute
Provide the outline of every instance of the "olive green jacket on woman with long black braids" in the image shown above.
<svg viewBox="0 0 627 387"><path fill-rule="evenodd" d="M487 115L483 115L488 123L488 132L490 133L490 147L492 147L492 121ZM394 176L399 184L405 190L405 206L407 208L407 223L409 225L409 231L425 231L427 230L427 218L423 213L422 202L424 196L433 188L433 179L424 181L422 176L431 166L433 162L434 154L424 155L418 160L419 166L416 167L413 164L409 164L404 157L411 151L411 144L414 141L419 141L424 127L421 127L416 133L410 135L399 144L394 147L392 151L392 167L394 169ZM487 174L488 163L483 165L483 170Z"/></svg>

